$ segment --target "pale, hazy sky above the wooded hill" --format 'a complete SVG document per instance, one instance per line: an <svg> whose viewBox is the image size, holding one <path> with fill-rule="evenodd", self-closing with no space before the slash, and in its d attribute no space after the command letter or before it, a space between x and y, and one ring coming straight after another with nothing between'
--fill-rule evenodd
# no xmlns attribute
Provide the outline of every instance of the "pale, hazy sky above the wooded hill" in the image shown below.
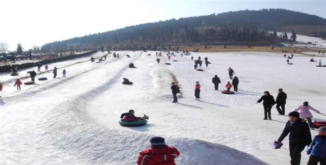
<svg viewBox="0 0 326 165"><path fill-rule="evenodd" d="M326 18L326 1L4 0L0 41L16 48L128 25L237 10L283 8Z"/></svg>

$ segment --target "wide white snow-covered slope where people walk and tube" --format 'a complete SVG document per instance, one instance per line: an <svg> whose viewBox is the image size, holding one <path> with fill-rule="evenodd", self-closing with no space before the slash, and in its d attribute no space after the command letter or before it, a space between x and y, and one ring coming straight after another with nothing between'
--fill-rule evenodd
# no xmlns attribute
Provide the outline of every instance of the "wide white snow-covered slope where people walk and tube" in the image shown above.
<svg viewBox="0 0 326 165"><path fill-rule="evenodd" d="M192 53L212 63L200 72L191 56L179 53L174 62L162 52L160 64L153 51L119 54L103 63L67 66L66 78L45 73L48 81L22 86L19 92L8 81L0 93L0 164L135 164L154 135L180 151L177 164L289 164L288 139L281 149L272 147L287 117L273 107L273 120L262 120L263 108L256 101L263 91L276 97L283 88L286 113L303 101L326 113L326 68L315 67L309 57L294 54L294 65L287 65L277 53ZM130 62L137 68L128 68ZM214 91L211 82L218 74L225 86L228 67L240 80L234 95ZM123 77L134 84L122 85ZM173 77L182 95L176 104L171 103ZM202 86L200 100L194 100L196 81ZM129 109L148 115L148 124L121 127L120 114ZM313 120L325 120L313 115ZM302 163L307 159L303 152Z"/></svg>

